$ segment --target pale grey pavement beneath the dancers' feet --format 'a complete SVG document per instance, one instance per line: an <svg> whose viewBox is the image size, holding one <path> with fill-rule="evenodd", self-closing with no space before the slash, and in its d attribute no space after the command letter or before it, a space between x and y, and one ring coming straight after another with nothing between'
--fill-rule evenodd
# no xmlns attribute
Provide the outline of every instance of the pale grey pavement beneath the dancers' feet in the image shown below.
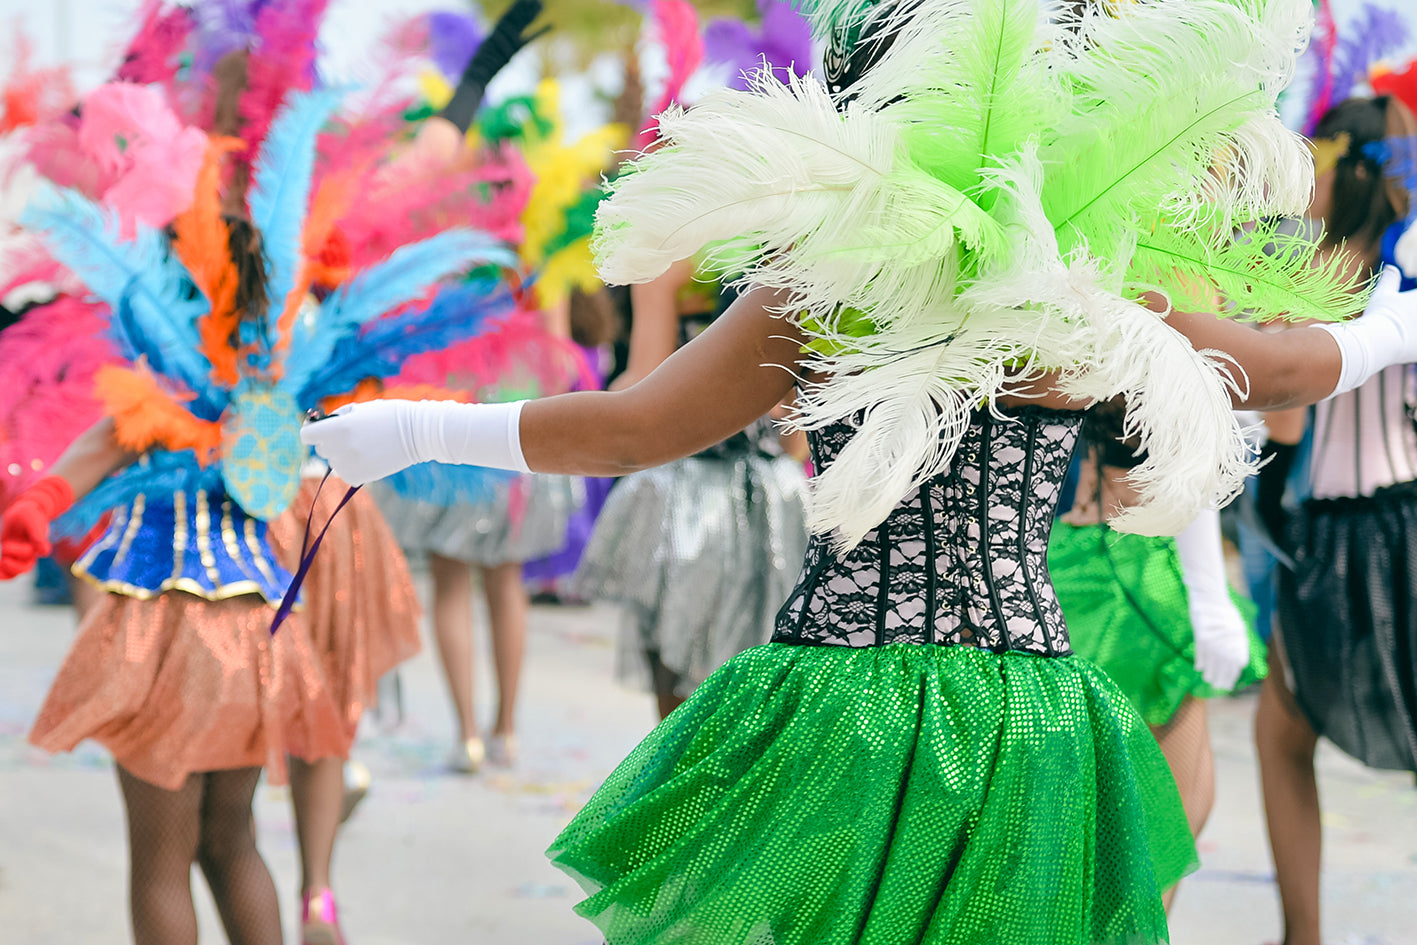
<svg viewBox="0 0 1417 945"><path fill-rule="evenodd" d="M0 584L0 944L122 944L129 941L126 854L112 765L92 744L50 758L24 741L72 636L67 609L27 601L27 582ZM571 910L580 891L541 851L653 723L649 697L611 679L615 623L605 608L533 609L523 759L510 771L444 774L452 730L434 657L424 652L404 664L402 718L387 698L356 747L374 782L336 851L351 945L599 942ZM479 659L486 696L486 653ZM1248 697L1212 707L1219 796L1202 837L1203 867L1182 887L1172 915L1175 945L1278 938L1253 710ZM1328 941L1417 945L1411 776L1367 771L1326 747L1319 771ZM262 786L256 817L293 932L298 864L286 792ZM203 941L220 942L205 891L200 881L194 887Z"/></svg>

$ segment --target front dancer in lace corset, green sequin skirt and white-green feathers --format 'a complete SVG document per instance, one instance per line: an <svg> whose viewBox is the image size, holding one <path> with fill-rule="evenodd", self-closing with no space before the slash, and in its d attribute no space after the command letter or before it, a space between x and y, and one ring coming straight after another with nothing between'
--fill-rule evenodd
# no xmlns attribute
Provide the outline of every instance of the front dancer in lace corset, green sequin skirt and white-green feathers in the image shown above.
<svg viewBox="0 0 1417 945"><path fill-rule="evenodd" d="M1165 761L1071 655L1046 540L1080 407L1125 397L1148 459L1114 527L1165 533L1253 469L1236 405L1417 354L1417 296L1386 276L1352 324L1270 337L1210 313L1217 292L1264 315L1363 300L1263 222L1308 201L1274 113L1308 16L823 4L825 84L672 109L602 204L608 281L704 244L744 273L713 327L625 391L306 426L350 482L427 459L604 475L796 388L815 536L774 642L700 686L551 847L612 945L1166 941L1189 826L1173 788L1144 799ZM1263 239L1230 241L1243 224Z"/></svg>

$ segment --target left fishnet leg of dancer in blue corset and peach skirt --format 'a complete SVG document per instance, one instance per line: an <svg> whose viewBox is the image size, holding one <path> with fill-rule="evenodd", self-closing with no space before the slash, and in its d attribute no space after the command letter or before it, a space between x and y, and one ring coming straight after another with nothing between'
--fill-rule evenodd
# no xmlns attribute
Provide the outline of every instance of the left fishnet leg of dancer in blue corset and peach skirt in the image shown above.
<svg viewBox="0 0 1417 945"><path fill-rule="evenodd" d="M196 945L191 864L201 839L201 775L164 791L118 768L128 812L128 901L136 945Z"/></svg>

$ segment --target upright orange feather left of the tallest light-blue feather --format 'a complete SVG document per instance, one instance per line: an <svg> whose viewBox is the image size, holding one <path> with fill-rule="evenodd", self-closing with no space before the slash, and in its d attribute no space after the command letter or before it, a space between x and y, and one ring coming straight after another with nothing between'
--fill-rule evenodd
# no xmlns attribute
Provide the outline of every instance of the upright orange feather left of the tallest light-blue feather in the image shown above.
<svg viewBox="0 0 1417 945"><path fill-rule="evenodd" d="M231 262L227 224L221 220L221 159L242 147L235 137L208 140L191 208L174 222L177 256L211 303L211 310L197 324L201 353L211 363L213 381L225 387L241 380L234 343L241 313L235 310L237 266Z"/></svg>

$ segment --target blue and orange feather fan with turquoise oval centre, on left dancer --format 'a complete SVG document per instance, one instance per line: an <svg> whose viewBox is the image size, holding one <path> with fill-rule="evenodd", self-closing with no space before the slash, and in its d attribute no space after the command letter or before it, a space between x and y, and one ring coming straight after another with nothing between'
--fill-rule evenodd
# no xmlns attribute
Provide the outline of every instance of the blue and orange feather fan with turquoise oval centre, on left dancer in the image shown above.
<svg viewBox="0 0 1417 945"><path fill-rule="evenodd" d="M364 378L395 374L405 357L468 337L510 307L492 286L436 289L470 266L514 265L513 254L468 230L400 247L315 303L309 262L337 208L312 198L310 174L316 135L337 102L330 91L292 96L255 163L249 205L266 259L268 317L235 309L218 164L238 142L213 142L170 242L143 224L123 238L109 208L74 191L51 190L31 207L27 222L112 309L111 336L128 366L102 370L98 392L118 441L162 451L85 504L112 507L145 489L215 475L247 513L271 519L299 485L305 411Z"/></svg>

